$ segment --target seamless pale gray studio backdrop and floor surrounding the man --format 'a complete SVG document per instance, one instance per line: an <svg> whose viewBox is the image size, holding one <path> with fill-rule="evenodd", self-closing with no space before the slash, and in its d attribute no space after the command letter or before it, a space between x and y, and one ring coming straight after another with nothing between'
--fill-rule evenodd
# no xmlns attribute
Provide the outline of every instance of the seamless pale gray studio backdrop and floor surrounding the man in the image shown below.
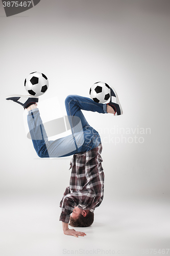
<svg viewBox="0 0 170 256"><path fill-rule="evenodd" d="M8 18L0 2L1 255L169 248L169 24L166 0L41 0ZM47 113L56 112L52 97L64 113L64 98L89 97L96 81L113 86L122 103L123 116L84 113L101 134L106 178L95 223L80 229L86 238L64 236L58 221L70 157L38 159L21 106L5 101L26 94L34 71L50 83L40 97Z"/></svg>

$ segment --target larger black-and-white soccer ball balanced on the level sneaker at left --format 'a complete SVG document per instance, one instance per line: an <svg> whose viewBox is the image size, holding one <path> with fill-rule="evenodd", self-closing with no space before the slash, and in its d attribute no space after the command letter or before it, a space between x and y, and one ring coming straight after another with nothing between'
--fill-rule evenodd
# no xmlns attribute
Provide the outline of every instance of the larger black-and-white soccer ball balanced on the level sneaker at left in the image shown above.
<svg viewBox="0 0 170 256"><path fill-rule="evenodd" d="M27 92L34 96L40 96L48 89L48 79L40 72L33 72L24 82Z"/></svg>

